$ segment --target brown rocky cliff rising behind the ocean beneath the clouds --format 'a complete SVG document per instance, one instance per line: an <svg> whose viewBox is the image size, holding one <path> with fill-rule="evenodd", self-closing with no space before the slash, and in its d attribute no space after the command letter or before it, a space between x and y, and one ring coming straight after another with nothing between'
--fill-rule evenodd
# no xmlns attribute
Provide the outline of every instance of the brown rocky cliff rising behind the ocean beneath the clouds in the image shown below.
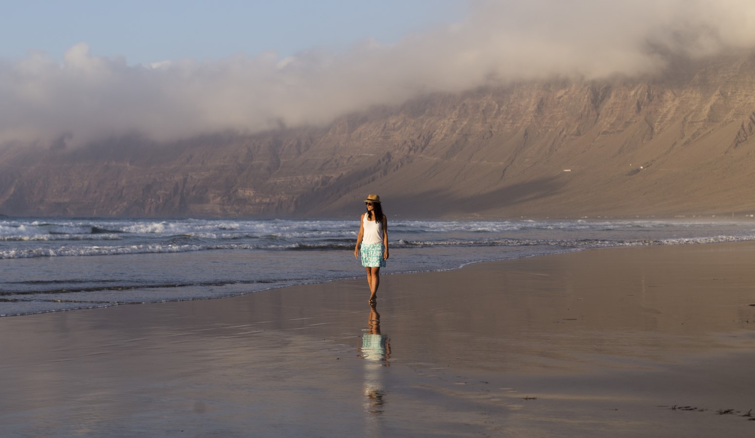
<svg viewBox="0 0 755 438"><path fill-rule="evenodd" d="M663 75L433 94L308 127L0 150L0 213L396 217L755 213L755 54Z"/></svg>

